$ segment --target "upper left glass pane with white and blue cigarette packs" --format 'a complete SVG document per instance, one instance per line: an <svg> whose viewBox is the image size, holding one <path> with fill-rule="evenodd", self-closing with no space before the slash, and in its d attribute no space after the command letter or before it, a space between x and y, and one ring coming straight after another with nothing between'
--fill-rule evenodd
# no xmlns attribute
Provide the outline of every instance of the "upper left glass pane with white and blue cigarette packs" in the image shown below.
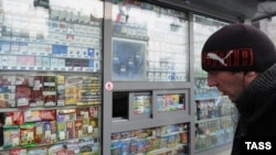
<svg viewBox="0 0 276 155"><path fill-rule="evenodd" d="M0 69L100 70L102 1L0 2Z"/></svg>

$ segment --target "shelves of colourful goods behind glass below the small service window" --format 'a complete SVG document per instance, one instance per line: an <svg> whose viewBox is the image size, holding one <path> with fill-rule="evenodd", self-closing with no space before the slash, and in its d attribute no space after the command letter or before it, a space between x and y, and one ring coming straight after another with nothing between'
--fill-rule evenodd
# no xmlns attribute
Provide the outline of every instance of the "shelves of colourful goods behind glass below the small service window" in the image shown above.
<svg viewBox="0 0 276 155"><path fill-rule="evenodd" d="M188 153L188 124L173 124L112 134L112 154Z"/></svg>

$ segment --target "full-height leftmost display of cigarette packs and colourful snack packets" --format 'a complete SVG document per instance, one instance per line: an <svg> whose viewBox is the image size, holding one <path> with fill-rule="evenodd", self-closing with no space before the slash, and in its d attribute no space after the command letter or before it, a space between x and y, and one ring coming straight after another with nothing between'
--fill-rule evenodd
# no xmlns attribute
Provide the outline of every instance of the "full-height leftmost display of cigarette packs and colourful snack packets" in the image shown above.
<svg viewBox="0 0 276 155"><path fill-rule="evenodd" d="M86 4L0 1L0 154L100 154L103 2Z"/></svg>

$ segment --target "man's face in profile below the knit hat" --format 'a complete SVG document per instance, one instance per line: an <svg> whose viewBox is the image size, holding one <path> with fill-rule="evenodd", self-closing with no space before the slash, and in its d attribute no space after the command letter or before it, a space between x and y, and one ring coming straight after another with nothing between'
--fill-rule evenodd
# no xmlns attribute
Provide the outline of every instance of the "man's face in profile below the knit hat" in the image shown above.
<svg viewBox="0 0 276 155"><path fill-rule="evenodd" d="M210 71L208 73L208 85L216 87L223 95L229 96L232 102L235 102L247 84L245 82L245 75L242 71Z"/></svg>

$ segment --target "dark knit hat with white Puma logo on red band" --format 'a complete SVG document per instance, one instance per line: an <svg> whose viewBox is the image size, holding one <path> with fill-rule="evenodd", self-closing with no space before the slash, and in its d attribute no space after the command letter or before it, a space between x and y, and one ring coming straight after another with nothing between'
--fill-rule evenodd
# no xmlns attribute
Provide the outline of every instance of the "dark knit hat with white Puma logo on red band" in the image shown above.
<svg viewBox="0 0 276 155"><path fill-rule="evenodd" d="M201 60L202 69L206 71L264 71L276 63L276 49L261 30L235 23L208 38Z"/></svg>

